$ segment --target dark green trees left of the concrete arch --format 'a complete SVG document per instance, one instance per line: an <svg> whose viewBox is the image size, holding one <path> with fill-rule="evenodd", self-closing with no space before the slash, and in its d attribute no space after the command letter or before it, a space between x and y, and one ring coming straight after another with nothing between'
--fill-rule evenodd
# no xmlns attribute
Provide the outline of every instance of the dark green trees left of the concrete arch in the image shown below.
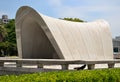
<svg viewBox="0 0 120 82"><path fill-rule="evenodd" d="M17 55L15 20L14 19L10 20L8 24L4 24L2 25L2 27L4 27L4 30L0 31L0 34L4 37L2 42L0 42L0 55L1 56Z"/></svg>

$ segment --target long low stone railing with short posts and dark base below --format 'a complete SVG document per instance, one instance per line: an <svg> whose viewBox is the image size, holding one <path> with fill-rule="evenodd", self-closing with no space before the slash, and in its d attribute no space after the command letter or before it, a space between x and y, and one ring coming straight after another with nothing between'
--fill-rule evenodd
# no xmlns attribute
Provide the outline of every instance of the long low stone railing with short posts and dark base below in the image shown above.
<svg viewBox="0 0 120 82"><path fill-rule="evenodd" d="M60 59L0 59L0 75L71 70L71 68L74 70L75 67L81 67L80 65L86 65L85 69L89 70L99 67L114 68L116 67L116 64L119 63L119 59L98 61ZM97 65L99 65L99 67Z"/></svg>

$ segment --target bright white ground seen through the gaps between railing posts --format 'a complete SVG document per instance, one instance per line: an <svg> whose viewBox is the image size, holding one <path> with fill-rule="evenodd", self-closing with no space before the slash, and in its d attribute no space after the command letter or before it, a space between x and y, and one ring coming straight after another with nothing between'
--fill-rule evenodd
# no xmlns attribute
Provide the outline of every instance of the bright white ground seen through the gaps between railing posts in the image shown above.
<svg viewBox="0 0 120 82"><path fill-rule="evenodd" d="M84 64L69 65L69 69L74 70L75 67L81 67L82 65L84 65ZM16 63L6 62L4 64L4 67L16 67ZM24 64L22 67L23 68L36 68L37 69L37 65ZM61 65L44 65L43 68L44 69L62 69ZM108 68L108 65L107 64L95 64L95 69L98 69L98 68ZM114 68L120 68L120 63L115 64ZM88 69L87 66L85 69Z"/></svg>

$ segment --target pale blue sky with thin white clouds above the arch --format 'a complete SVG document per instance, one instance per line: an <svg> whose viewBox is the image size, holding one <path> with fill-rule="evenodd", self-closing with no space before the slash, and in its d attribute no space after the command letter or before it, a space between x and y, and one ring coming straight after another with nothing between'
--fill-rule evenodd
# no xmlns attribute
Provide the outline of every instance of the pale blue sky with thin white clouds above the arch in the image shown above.
<svg viewBox="0 0 120 82"><path fill-rule="evenodd" d="M26 5L55 18L105 19L112 36L120 36L120 0L0 0L0 18L3 14L15 18L18 8Z"/></svg>

